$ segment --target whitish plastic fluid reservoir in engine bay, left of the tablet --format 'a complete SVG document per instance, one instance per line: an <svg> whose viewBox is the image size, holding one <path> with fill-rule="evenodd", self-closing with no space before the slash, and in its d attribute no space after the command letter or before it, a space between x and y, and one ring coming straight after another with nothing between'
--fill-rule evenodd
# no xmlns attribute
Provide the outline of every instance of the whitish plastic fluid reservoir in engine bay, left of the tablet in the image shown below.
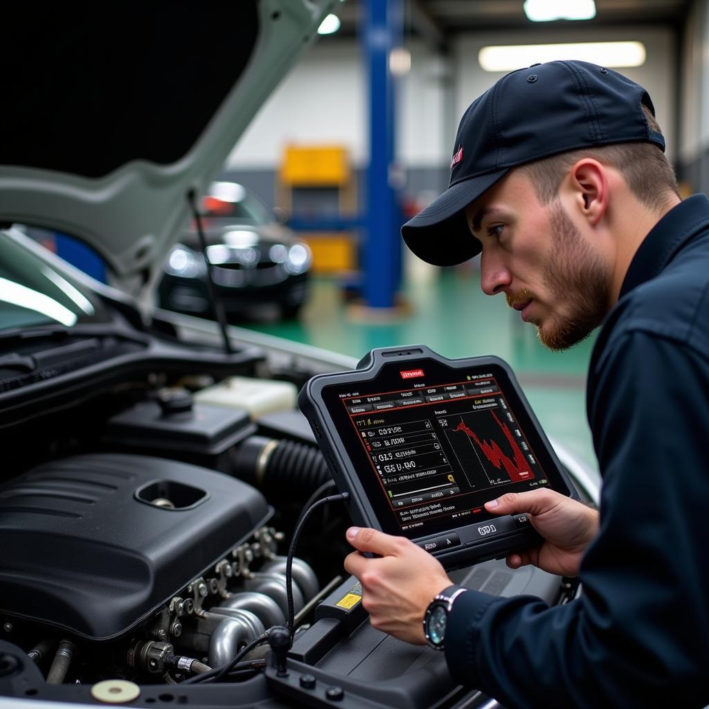
<svg viewBox="0 0 709 709"><path fill-rule="evenodd" d="M251 418L296 407L298 389L289 381L231 376L194 394L195 401L248 411Z"/></svg>

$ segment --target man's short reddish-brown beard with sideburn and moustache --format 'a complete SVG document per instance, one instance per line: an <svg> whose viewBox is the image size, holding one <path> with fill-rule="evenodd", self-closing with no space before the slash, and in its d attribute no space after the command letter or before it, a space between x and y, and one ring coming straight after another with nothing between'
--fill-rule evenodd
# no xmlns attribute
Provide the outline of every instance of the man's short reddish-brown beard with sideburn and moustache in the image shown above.
<svg viewBox="0 0 709 709"><path fill-rule="evenodd" d="M566 303L569 315L552 312L537 326L537 337L549 350L568 350L591 335L610 310L610 270L581 237L559 201L550 207L552 251L542 274L552 296ZM510 307L535 299L529 289L507 294Z"/></svg>

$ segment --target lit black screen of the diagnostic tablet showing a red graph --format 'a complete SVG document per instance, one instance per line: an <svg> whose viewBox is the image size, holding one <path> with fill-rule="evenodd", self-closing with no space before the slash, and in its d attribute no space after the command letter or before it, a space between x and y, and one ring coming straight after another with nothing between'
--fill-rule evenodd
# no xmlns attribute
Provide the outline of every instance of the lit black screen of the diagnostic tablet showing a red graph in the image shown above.
<svg viewBox="0 0 709 709"><path fill-rule="evenodd" d="M493 518L486 501L558 475L501 367L387 365L343 389L323 398L384 531L415 538Z"/></svg>

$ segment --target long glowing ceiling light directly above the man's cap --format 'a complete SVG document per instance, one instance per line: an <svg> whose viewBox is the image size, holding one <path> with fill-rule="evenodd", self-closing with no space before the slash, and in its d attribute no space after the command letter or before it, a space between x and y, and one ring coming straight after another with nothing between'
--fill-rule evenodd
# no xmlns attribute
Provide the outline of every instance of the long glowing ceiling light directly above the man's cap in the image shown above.
<svg viewBox="0 0 709 709"><path fill-rule="evenodd" d="M478 62L486 72L512 72L559 59L576 59L602 67L640 67L645 63L645 45L642 42L508 45L484 47L478 53Z"/></svg>

